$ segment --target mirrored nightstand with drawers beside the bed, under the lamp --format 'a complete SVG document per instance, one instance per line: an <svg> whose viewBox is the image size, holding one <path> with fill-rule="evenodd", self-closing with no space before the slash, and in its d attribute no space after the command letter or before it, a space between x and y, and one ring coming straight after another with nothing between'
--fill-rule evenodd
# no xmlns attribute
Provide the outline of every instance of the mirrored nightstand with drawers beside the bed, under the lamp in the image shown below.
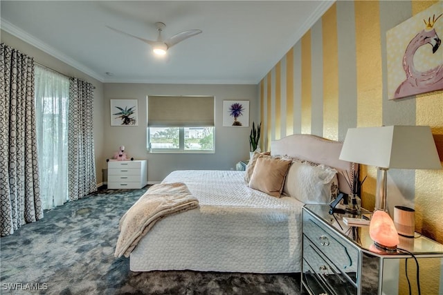
<svg viewBox="0 0 443 295"><path fill-rule="evenodd" d="M440 274L440 243L416 234L416 238L401 238L398 247L394 254L378 251L368 226L348 227L329 214L329 205L307 204L303 208L302 286L310 294L401 294L408 291L406 260L414 265L408 267L408 278L417 276L413 256L420 266L420 283L435 276L435 269ZM443 285L439 282L435 278L434 284L422 283L422 294L439 294ZM417 291L415 279L411 288Z"/></svg>

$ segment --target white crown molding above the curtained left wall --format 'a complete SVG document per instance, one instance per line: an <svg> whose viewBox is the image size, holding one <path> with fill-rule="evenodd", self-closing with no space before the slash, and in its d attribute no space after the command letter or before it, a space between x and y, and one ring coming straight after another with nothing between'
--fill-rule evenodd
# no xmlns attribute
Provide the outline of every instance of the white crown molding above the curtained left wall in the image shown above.
<svg viewBox="0 0 443 295"><path fill-rule="evenodd" d="M82 73L87 74L93 77L94 79L98 79L98 81L100 82L103 82L104 80L103 77L101 75L98 75L98 73L96 73L95 71L91 70L91 68L84 66L84 64L80 64L75 59L72 59L71 57L60 52L59 50L56 50L55 48L44 43L44 41L37 39L32 35L29 35L27 32L21 30L21 28L17 26L14 26L6 19L0 17L0 23L1 23L1 29L4 30L5 32L8 32L11 35L21 39L22 41L25 41L26 43L34 46L35 48L42 50L44 53L47 53L48 55L51 55L52 57L55 57L56 59L63 61L65 64L69 64L69 66L72 66L77 70L80 70Z"/></svg>

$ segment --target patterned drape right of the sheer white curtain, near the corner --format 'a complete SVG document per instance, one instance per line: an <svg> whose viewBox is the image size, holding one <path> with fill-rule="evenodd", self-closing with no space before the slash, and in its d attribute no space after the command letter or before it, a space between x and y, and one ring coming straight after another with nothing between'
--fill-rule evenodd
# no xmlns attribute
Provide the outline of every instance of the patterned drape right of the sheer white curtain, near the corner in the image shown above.
<svg viewBox="0 0 443 295"><path fill-rule="evenodd" d="M92 84L70 79L68 114L69 200L72 201L97 191Z"/></svg>

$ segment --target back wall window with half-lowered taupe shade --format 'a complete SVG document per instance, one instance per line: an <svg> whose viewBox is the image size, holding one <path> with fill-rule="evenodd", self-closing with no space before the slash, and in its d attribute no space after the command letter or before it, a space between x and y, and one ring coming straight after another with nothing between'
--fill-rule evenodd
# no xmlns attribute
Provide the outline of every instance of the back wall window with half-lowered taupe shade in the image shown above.
<svg viewBox="0 0 443 295"><path fill-rule="evenodd" d="M147 147L154 153L214 153L214 97L148 97Z"/></svg>

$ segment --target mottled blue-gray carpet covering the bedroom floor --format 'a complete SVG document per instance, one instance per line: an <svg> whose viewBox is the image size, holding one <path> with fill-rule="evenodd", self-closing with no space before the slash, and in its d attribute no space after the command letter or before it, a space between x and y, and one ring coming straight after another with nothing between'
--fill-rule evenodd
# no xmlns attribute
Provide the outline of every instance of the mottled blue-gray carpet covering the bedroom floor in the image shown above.
<svg viewBox="0 0 443 295"><path fill-rule="evenodd" d="M131 272L118 220L145 190L99 191L0 238L0 294L300 294L300 274Z"/></svg>

